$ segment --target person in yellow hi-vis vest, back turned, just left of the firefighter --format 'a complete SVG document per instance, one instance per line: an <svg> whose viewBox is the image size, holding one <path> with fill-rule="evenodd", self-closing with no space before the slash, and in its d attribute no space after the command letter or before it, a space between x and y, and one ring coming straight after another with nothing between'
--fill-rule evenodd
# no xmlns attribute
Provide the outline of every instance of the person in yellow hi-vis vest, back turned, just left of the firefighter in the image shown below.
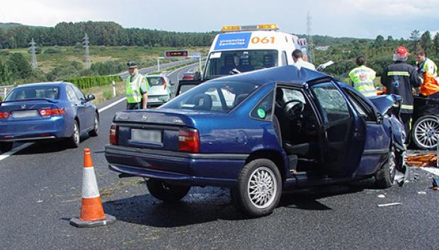
<svg viewBox="0 0 439 250"><path fill-rule="evenodd" d="M377 91L373 85L373 79L375 79L376 73L373 69L365 66L366 58L357 57L355 63L358 65L355 69L349 72L349 78L352 86L363 93L364 96L376 96Z"/></svg>

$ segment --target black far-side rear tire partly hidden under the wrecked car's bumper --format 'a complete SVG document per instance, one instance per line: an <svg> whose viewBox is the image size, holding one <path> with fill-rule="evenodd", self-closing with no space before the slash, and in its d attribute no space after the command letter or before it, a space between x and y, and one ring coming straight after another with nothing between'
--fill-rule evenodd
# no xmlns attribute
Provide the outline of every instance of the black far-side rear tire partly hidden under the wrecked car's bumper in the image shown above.
<svg viewBox="0 0 439 250"><path fill-rule="evenodd" d="M165 203L176 203L190 191L190 186L177 186L155 179L147 181L149 193Z"/></svg>

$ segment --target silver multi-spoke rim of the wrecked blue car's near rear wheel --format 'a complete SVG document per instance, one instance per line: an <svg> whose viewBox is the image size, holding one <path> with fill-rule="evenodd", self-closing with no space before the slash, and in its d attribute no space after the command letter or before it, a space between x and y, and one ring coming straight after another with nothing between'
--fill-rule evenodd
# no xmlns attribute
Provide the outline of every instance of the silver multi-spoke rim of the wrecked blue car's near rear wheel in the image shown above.
<svg viewBox="0 0 439 250"><path fill-rule="evenodd" d="M247 183L249 200L256 208L267 208L275 199L278 192L277 186L273 171L266 166L261 166L251 173Z"/></svg>

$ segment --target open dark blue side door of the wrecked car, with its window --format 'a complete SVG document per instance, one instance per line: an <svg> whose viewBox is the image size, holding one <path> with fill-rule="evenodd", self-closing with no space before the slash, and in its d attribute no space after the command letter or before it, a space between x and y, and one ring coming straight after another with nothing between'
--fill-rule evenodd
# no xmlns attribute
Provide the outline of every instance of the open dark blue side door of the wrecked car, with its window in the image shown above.
<svg viewBox="0 0 439 250"><path fill-rule="evenodd" d="M353 112L341 88L331 79L309 84L322 125L321 171L331 177L352 176L365 146L364 120Z"/></svg>

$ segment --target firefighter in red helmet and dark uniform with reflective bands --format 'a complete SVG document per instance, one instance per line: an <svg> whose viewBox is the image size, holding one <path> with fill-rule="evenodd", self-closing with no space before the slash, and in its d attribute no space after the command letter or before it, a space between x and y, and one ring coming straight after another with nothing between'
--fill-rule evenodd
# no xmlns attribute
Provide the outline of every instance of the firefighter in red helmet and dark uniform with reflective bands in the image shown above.
<svg viewBox="0 0 439 250"><path fill-rule="evenodd" d="M416 68L407 64L410 53L405 47L398 47L393 55L394 63L384 68L381 84L387 88L387 93L402 97L401 120L406 130L406 142L410 131L410 120L413 114L412 88L421 86L421 78Z"/></svg>

